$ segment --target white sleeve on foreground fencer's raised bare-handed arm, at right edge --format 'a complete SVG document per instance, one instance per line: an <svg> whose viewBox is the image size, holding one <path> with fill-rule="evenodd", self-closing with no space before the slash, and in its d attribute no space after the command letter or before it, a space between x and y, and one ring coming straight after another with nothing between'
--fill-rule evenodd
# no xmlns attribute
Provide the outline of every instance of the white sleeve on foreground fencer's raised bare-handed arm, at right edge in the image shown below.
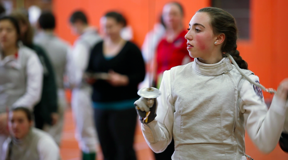
<svg viewBox="0 0 288 160"><path fill-rule="evenodd" d="M259 81L255 75L249 77ZM244 113L244 123L251 140L262 152L272 152L282 133L288 106L274 96L268 110L264 98L257 94L257 89L248 81L243 82L239 98L239 107Z"/></svg>

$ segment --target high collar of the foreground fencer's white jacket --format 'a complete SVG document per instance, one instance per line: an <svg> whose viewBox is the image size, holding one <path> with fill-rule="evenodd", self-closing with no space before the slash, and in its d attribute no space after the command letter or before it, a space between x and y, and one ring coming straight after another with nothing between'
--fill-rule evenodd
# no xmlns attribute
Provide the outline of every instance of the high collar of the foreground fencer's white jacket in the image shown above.
<svg viewBox="0 0 288 160"><path fill-rule="evenodd" d="M223 58L220 62L216 64L204 64L200 62L198 58L195 58L193 63L193 69L201 75L216 76L232 70L233 66L229 58Z"/></svg>

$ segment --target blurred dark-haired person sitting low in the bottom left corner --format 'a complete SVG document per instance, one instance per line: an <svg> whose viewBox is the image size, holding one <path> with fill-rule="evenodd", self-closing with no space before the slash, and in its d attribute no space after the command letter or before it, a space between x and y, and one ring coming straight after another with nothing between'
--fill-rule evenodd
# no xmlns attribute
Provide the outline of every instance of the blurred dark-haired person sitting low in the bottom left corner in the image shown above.
<svg viewBox="0 0 288 160"><path fill-rule="evenodd" d="M58 160L59 147L46 132L33 127L28 108L13 108L9 112L10 137L3 144L1 160Z"/></svg>

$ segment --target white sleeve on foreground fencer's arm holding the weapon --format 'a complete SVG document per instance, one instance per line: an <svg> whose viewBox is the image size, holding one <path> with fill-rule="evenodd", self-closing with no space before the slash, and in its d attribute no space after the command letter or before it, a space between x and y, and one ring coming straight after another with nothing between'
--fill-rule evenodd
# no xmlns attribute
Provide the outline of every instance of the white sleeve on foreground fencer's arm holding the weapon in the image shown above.
<svg viewBox="0 0 288 160"><path fill-rule="evenodd" d="M170 70L165 71L160 86L161 96L157 98L157 116L149 124L142 124L142 132L149 147L155 152L163 152L173 137L174 102L170 87Z"/></svg>

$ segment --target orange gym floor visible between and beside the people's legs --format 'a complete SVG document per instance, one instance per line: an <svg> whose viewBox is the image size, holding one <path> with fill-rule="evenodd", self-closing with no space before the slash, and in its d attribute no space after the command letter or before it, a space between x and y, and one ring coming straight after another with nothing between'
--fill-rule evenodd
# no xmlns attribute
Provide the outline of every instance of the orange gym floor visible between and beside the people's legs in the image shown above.
<svg viewBox="0 0 288 160"><path fill-rule="evenodd" d="M134 149L136 150L137 160L154 160L153 153L143 138L139 123L136 129ZM62 160L80 160L81 158L81 152L78 148L78 143L74 138L74 123L70 108L67 109L65 114L64 132L62 136L60 151ZM284 153L278 145L272 153L264 155L254 147L254 145L248 138L246 138L246 153L255 160L288 159L288 154ZM101 155L101 153L98 154L97 160L103 160L103 156Z"/></svg>

